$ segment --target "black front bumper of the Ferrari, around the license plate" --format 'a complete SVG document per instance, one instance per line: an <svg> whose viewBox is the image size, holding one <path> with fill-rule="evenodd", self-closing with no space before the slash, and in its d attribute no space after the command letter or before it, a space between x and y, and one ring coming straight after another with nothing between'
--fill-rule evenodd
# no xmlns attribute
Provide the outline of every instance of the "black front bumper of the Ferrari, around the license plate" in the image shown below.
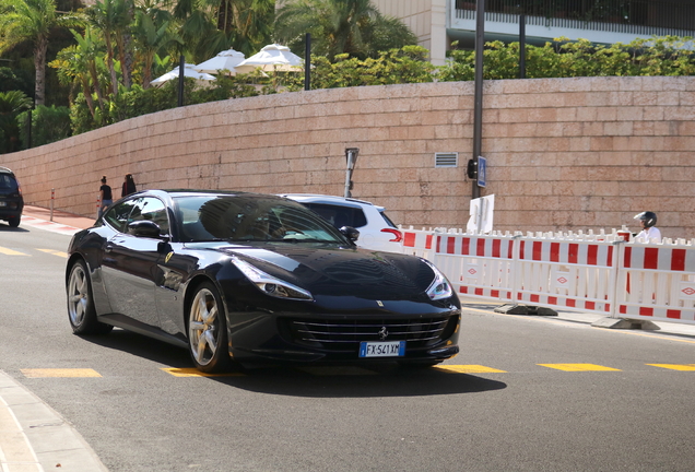
<svg viewBox="0 0 695 472"><path fill-rule="evenodd" d="M229 354L243 365L437 362L459 352L460 320L458 309L408 317L235 314L227 322ZM362 342L379 341L405 341L404 355L360 357Z"/></svg>

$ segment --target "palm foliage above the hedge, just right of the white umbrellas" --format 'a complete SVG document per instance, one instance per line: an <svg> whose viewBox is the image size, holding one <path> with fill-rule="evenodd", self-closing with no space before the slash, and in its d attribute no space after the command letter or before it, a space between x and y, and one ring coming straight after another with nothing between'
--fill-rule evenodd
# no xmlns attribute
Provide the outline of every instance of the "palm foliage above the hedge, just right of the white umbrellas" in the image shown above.
<svg viewBox="0 0 695 472"><path fill-rule="evenodd" d="M370 0L290 0L275 19L275 37L297 47L311 33L316 54L365 58L417 43L399 20L385 17Z"/></svg>

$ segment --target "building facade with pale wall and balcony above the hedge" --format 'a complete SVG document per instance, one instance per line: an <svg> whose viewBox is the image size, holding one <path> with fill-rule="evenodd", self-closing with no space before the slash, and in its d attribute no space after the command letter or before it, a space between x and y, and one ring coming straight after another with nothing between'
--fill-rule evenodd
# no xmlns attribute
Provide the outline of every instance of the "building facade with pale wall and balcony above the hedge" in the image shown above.
<svg viewBox="0 0 695 472"><path fill-rule="evenodd" d="M445 63L452 42L474 46L475 0L373 2L410 26L435 66ZM652 36L695 36L692 0L485 0L485 40L518 40L521 14L527 42L537 45L557 37L626 44Z"/></svg>

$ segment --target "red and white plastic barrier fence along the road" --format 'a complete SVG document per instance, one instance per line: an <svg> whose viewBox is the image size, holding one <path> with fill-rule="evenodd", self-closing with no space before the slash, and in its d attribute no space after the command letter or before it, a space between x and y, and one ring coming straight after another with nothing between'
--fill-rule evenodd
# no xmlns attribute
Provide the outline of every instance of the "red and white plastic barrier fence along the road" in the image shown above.
<svg viewBox="0 0 695 472"><path fill-rule="evenodd" d="M403 252L435 263L466 297L695 323L695 241L401 229Z"/></svg>

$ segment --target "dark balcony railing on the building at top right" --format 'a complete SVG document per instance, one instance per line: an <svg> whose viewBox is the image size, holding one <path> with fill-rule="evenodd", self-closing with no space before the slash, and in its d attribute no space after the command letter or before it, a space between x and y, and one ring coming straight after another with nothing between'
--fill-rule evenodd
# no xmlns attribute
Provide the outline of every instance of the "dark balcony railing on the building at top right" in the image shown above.
<svg viewBox="0 0 695 472"><path fill-rule="evenodd" d="M474 19L474 0L455 0L457 19ZM692 0L485 0L485 19L546 27L593 30L636 35L695 35Z"/></svg>

